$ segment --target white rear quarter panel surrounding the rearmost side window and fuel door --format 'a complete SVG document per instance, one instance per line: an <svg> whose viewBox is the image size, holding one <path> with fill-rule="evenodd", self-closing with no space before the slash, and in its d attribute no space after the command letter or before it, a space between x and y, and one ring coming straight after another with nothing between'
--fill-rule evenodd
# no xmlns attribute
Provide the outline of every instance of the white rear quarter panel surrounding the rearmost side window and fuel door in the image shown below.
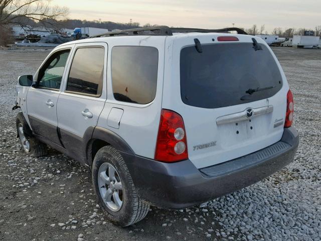
<svg viewBox="0 0 321 241"><path fill-rule="evenodd" d="M148 104L135 104L115 100L111 83L111 58L108 58L107 101L97 125L116 133L126 141L136 155L147 158L154 158L159 119L161 118L166 38L166 36L102 38L108 43L108 56L111 56L114 46L149 46L155 47L158 50L156 96ZM123 109L119 129L107 125L107 118L113 107Z"/></svg>

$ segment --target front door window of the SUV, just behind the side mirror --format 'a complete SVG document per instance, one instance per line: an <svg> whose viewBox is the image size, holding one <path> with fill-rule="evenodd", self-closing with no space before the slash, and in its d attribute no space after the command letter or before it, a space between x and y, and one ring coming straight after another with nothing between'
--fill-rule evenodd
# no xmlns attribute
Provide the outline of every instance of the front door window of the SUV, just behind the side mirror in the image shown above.
<svg viewBox="0 0 321 241"><path fill-rule="evenodd" d="M59 89L70 50L54 53L40 70L37 87Z"/></svg>

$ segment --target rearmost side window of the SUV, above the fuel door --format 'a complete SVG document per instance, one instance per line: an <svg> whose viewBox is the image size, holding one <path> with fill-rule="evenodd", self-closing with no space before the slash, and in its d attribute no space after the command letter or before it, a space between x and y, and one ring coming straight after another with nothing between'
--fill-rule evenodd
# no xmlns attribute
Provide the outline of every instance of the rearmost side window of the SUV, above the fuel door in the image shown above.
<svg viewBox="0 0 321 241"><path fill-rule="evenodd" d="M144 46L112 48L111 75L114 98L147 104L156 95L158 50Z"/></svg>

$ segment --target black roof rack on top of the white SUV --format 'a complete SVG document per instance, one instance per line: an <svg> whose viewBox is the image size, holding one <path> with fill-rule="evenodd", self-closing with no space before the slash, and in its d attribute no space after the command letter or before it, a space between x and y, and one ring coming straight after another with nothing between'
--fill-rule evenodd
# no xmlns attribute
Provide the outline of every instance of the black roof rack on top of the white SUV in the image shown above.
<svg viewBox="0 0 321 241"><path fill-rule="evenodd" d="M112 36L135 36L135 35L155 35L155 36L172 36L173 33L228 33L229 31L236 31L238 34L247 35L247 33L239 28L224 28L224 29L193 29L193 28L170 28L168 26L155 26L148 28L136 28L117 30L113 32L107 32L104 34L98 34L90 38L98 37L112 37Z"/></svg>

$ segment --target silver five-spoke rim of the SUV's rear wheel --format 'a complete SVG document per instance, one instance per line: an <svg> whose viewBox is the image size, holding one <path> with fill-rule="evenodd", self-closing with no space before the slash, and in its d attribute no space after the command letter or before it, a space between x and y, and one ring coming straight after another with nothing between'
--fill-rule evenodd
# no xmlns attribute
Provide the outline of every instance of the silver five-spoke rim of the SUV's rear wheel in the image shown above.
<svg viewBox="0 0 321 241"><path fill-rule="evenodd" d="M98 171L100 195L112 211L119 211L123 202L123 191L120 176L109 163L103 163Z"/></svg>

